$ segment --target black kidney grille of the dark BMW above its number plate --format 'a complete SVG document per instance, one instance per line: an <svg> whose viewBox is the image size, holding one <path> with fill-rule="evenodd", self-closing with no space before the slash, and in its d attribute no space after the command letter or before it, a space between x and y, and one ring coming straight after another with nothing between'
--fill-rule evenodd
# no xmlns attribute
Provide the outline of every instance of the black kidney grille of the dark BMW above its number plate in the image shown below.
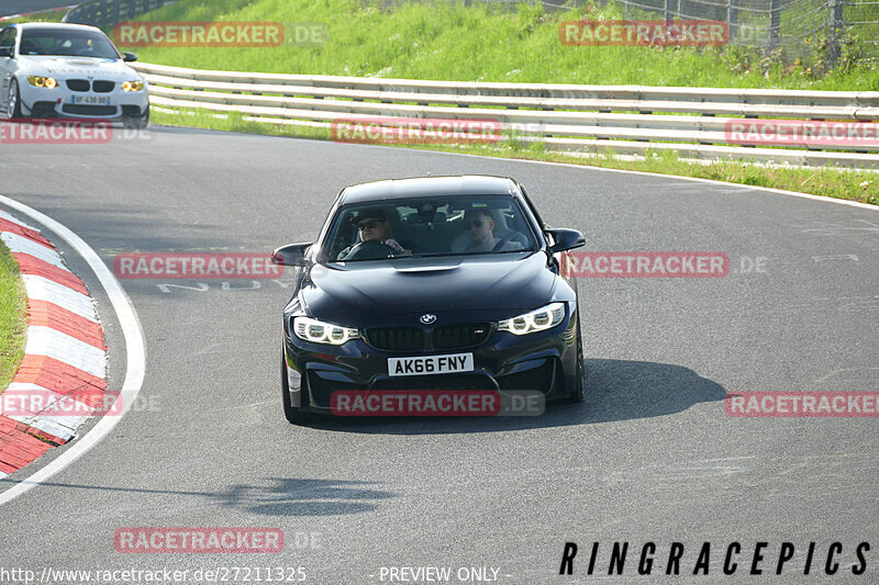
<svg viewBox="0 0 879 585"><path fill-rule="evenodd" d="M385 351L461 349L478 346L490 334L491 325L488 323L443 325L433 330L419 327L370 327L366 329L366 342Z"/></svg>

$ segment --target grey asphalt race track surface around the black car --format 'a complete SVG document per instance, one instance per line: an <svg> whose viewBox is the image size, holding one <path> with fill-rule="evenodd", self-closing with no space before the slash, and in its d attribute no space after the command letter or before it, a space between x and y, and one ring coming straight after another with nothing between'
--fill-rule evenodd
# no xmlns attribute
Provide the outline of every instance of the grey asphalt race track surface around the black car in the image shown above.
<svg viewBox="0 0 879 585"><path fill-rule="evenodd" d="M338 190L388 177L512 176L588 250L717 250L720 279L582 279L587 387L541 417L287 424L285 281L123 280L147 347L140 407L71 465L0 507L0 567L304 566L307 583L380 583L385 566L498 567L499 583L879 580L876 418L732 418L736 391L879 390L879 214L732 187L379 146L152 128L107 145L0 145L0 193L65 224L112 267L131 251L270 251L313 239ZM49 234L52 236L52 234ZM98 299L110 385L119 324ZM743 260L745 258L746 260ZM765 271L741 267L763 260ZM178 284L187 288L167 288ZM0 481L0 491L69 447ZM121 527L277 527L280 554L121 554ZM302 547L298 535L316 533ZM580 545L559 577L566 541ZM628 541L624 576L608 551ZM638 577L635 552L657 543ZM682 576L663 573L679 541ZM763 577L720 573L769 542ZM797 556L774 575L779 544ZM802 575L808 543L819 552ZM870 542L868 570L849 572ZM589 547L601 543L596 575ZM742 564L749 565L749 556ZM797 569L799 566L799 570ZM791 569L792 567L792 569ZM659 574L656 574L659 573ZM454 573L453 573L454 575ZM603 577L602 577L603 575ZM454 581L454 580L453 580ZM387 578L386 581L387 582Z"/></svg>

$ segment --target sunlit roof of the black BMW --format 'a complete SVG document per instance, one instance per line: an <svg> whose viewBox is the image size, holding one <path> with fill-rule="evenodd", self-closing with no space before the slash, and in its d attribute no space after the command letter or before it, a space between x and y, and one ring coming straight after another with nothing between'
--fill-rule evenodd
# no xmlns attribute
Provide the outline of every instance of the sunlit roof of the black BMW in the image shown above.
<svg viewBox="0 0 879 585"><path fill-rule="evenodd" d="M388 199L429 195L507 195L516 193L509 177L464 175L458 177L418 177L389 179L346 187L344 203L363 203Z"/></svg>

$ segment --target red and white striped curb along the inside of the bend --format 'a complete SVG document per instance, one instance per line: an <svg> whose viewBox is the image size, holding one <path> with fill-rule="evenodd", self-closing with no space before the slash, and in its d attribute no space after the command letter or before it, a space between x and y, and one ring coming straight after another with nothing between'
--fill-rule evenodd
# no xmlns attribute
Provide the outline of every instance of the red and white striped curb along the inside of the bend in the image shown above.
<svg viewBox="0 0 879 585"><path fill-rule="evenodd" d="M27 291L27 340L24 359L9 385L15 397L29 392L40 401L15 401L4 414L0 394L0 479L23 468L53 446L74 438L87 414L103 402L107 347L103 327L85 283L64 265L40 230L0 211L0 239L10 249ZM75 401L71 408L69 401ZM27 408L37 407L31 412ZM42 440L41 440L42 439Z"/></svg>

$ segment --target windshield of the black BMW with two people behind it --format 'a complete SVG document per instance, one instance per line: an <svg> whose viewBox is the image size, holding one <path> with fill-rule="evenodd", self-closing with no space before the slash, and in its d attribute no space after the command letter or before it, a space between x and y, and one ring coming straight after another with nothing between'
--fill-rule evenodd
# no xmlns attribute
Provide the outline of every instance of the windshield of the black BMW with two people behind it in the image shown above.
<svg viewBox="0 0 879 585"><path fill-rule="evenodd" d="M537 249L530 223L509 195L456 195L358 203L338 210L326 261L489 255Z"/></svg>

